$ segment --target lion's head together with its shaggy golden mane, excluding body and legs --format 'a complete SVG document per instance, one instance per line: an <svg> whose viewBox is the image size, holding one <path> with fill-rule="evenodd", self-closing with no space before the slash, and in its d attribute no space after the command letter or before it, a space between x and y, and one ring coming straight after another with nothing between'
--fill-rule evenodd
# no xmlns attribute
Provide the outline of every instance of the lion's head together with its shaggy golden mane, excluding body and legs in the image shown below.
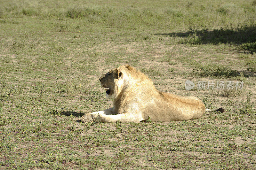
<svg viewBox="0 0 256 170"><path fill-rule="evenodd" d="M108 73L100 77L100 84L106 89L106 96L114 98L113 102L117 113L129 111L132 102L135 100L142 102L138 99L138 96L144 98L148 96L150 98L156 92L159 92L148 76L130 65L109 70ZM137 99L134 100L135 97Z"/></svg>

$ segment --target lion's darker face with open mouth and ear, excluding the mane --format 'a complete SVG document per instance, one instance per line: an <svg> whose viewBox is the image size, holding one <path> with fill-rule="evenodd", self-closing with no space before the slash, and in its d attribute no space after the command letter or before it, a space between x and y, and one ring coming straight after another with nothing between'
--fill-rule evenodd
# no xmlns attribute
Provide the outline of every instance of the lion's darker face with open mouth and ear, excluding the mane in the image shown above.
<svg viewBox="0 0 256 170"><path fill-rule="evenodd" d="M118 68L111 69L100 77L100 84L105 88L107 97L112 96L116 92L118 82L122 79L123 73Z"/></svg>

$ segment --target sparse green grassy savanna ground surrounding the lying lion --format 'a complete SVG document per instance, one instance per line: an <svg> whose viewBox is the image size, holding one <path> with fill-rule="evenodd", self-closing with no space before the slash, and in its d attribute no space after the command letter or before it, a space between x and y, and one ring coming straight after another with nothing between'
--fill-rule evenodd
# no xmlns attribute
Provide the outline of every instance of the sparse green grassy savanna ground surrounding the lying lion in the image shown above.
<svg viewBox="0 0 256 170"><path fill-rule="evenodd" d="M255 169L256 1L0 1L2 169ZM131 64L209 109L180 122L79 122ZM243 89L185 89L185 81Z"/></svg>

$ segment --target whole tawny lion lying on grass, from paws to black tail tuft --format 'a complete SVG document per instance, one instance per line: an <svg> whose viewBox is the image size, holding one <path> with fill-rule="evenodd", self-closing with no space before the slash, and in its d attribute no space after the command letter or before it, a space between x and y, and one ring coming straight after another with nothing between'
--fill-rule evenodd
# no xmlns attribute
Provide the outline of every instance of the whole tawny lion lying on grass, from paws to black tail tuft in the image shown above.
<svg viewBox="0 0 256 170"><path fill-rule="evenodd" d="M160 92L151 79L130 65L109 70L100 77L107 97L114 98L114 107L84 114L81 122L139 123L151 121L182 121L198 119L206 111L197 97L181 97ZM224 112L220 108L216 111Z"/></svg>

